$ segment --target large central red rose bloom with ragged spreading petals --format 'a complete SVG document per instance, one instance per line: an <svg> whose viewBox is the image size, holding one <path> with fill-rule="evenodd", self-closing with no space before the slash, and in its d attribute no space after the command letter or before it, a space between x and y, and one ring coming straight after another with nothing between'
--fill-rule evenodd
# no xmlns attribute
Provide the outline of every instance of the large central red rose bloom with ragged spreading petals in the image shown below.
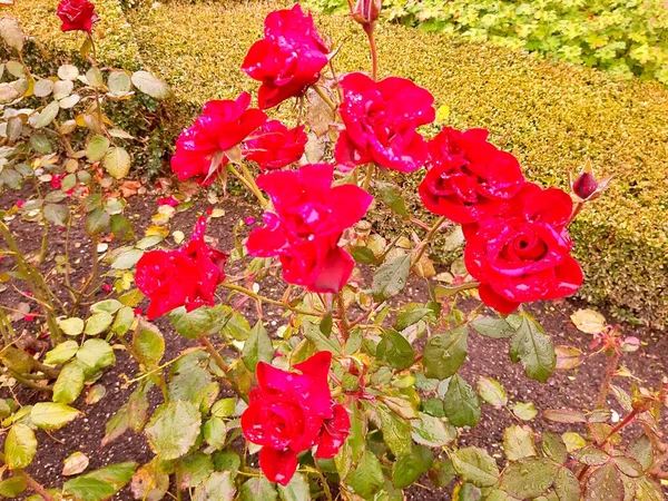
<svg viewBox="0 0 668 501"><path fill-rule="evenodd" d="M338 239L373 199L354 185L332 187L333 174L331 165L310 164L257 178L275 213L265 213L265 225L250 233L248 253L278 257L283 278L312 292L337 293L346 284L354 263Z"/></svg>

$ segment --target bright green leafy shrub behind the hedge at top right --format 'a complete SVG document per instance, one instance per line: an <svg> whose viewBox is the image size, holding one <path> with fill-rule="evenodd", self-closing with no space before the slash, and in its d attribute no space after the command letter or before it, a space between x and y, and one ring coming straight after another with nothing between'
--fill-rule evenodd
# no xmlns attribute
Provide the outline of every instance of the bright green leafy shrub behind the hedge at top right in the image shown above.
<svg viewBox="0 0 668 501"><path fill-rule="evenodd" d="M314 0L345 12L345 0ZM387 0L386 19L424 31L523 48L619 78L668 84L668 9L662 0Z"/></svg>

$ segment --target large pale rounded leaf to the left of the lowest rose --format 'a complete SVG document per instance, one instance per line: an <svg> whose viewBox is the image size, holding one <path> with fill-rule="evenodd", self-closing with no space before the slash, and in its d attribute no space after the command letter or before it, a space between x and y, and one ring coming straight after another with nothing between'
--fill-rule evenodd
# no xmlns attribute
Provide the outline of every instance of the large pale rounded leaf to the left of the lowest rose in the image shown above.
<svg viewBox="0 0 668 501"><path fill-rule="evenodd" d="M151 450L161 460L185 455L197 441L202 418L197 407L186 401L163 404L146 426Z"/></svg>

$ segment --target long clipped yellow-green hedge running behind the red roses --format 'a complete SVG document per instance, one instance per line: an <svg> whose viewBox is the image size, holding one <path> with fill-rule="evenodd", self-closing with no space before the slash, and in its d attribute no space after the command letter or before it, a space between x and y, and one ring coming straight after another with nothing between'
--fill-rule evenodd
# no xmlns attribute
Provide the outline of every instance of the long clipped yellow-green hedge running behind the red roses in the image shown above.
<svg viewBox="0 0 668 501"><path fill-rule="evenodd" d="M126 13L141 58L173 85L189 114L191 105L256 88L239 65L266 13L281 6L288 3L143 0ZM337 70L369 68L365 39L350 19L316 16L316 21L334 47L344 43ZM448 125L490 129L499 146L520 158L529 178L567 188L568 173L587 158L600 175L615 176L572 227L587 275L580 297L662 326L668 320L668 91L657 82L615 81L523 51L410 28L382 24L377 38L382 75L429 88L438 106L450 107ZM284 106L278 114L291 112ZM407 178L405 193L414 193L419 181L420 174ZM401 225L386 213L375 218L382 232Z"/></svg>

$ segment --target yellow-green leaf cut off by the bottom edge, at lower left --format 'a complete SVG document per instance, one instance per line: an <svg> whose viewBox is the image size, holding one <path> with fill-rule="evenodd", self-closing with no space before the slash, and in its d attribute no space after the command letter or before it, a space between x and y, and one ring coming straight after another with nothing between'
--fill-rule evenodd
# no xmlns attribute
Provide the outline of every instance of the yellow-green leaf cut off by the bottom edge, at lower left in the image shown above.
<svg viewBox="0 0 668 501"><path fill-rule="evenodd" d="M118 463L77 477L63 489L80 501L102 501L120 491L132 478L137 463Z"/></svg>

